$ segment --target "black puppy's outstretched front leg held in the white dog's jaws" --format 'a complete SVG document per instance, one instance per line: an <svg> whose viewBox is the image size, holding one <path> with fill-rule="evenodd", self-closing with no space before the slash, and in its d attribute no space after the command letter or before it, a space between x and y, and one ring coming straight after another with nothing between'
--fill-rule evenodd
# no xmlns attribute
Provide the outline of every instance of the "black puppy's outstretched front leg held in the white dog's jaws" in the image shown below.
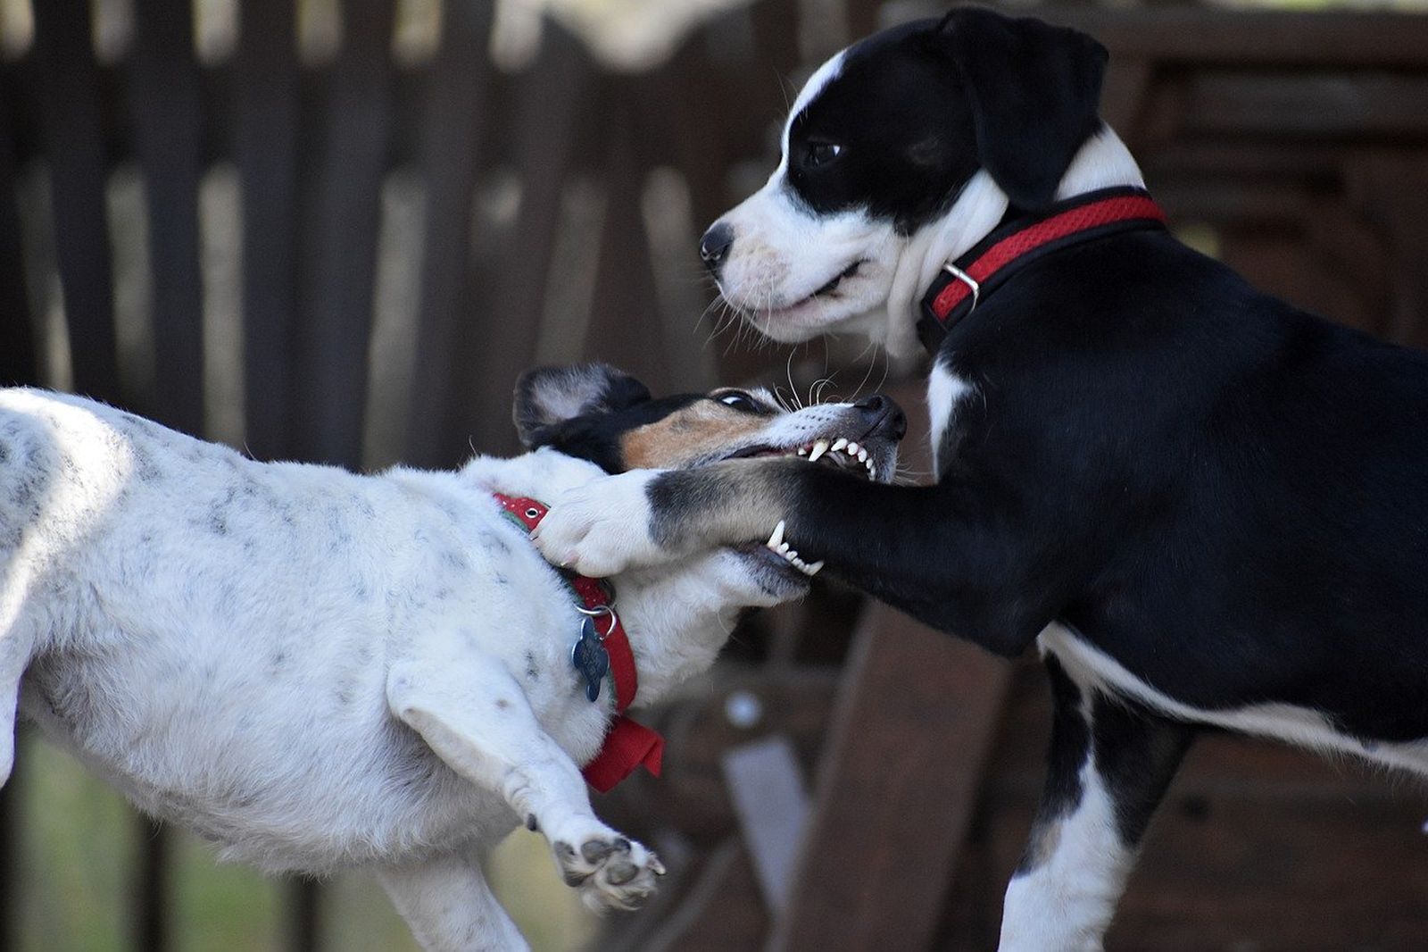
<svg viewBox="0 0 1428 952"><path fill-rule="evenodd" d="M1097 565L1110 520L1075 487L1005 500L977 483L885 486L798 460L633 470L560 493L536 539L584 575L773 540L805 563L1001 655L1035 639Z"/></svg>

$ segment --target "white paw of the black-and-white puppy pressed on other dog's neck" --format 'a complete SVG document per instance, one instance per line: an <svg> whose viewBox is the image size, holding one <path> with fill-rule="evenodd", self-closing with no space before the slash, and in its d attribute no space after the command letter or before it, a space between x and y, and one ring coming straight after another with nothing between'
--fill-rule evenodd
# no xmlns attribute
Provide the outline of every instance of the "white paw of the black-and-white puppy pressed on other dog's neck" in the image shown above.
<svg viewBox="0 0 1428 952"><path fill-rule="evenodd" d="M567 489L531 539L554 565L604 577L650 565L665 552L650 536L650 482L658 470L633 470Z"/></svg>

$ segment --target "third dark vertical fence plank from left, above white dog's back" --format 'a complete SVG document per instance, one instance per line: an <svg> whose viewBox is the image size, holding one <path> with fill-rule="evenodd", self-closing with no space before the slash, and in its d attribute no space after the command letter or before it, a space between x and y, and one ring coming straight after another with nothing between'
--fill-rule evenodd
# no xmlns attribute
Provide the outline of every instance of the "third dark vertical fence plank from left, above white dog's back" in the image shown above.
<svg viewBox="0 0 1428 952"><path fill-rule="evenodd" d="M291 0L243 0L233 83L234 157L243 186L246 446L291 455L297 299L298 73Z"/></svg>

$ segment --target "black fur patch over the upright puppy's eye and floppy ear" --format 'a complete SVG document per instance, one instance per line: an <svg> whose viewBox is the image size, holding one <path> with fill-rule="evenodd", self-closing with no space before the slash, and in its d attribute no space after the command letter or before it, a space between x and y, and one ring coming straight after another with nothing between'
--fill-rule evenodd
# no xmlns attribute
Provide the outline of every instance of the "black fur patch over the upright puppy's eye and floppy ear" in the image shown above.
<svg viewBox="0 0 1428 952"><path fill-rule="evenodd" d="M945 210L978 167L1014 207L1042 209L1100 127L1104 71L1090 37L975 7L884 30L850 47L793 117L788 187L813 214L864 209L902 234Z"/></svg>

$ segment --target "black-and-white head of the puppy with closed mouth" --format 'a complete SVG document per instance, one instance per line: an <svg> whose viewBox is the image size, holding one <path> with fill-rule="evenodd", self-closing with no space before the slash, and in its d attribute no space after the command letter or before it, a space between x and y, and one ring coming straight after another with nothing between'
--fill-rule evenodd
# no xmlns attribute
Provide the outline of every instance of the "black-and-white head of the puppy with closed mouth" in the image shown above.
<svg viewBox="0 0 1428 952"><path fill-rule="evenodd" d="M794 101L764 187L704 234L724 299L775 340L911 352L937 269L1008 209L1140 184L1097 116L1105 60L1088 36L978 9L843 50Z"/></svg>

